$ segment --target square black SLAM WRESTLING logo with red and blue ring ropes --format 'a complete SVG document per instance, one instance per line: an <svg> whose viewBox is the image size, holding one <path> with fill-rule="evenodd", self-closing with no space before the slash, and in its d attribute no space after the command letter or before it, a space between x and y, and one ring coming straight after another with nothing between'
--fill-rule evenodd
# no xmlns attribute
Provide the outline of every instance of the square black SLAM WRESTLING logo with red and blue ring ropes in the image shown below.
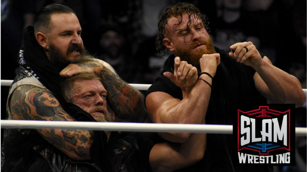
<svg viewBox="0 0 307 172"><path fill-rule="evenodd" d="M295 106L270 104L237 109L236 165L295 165Z"/></svg>

